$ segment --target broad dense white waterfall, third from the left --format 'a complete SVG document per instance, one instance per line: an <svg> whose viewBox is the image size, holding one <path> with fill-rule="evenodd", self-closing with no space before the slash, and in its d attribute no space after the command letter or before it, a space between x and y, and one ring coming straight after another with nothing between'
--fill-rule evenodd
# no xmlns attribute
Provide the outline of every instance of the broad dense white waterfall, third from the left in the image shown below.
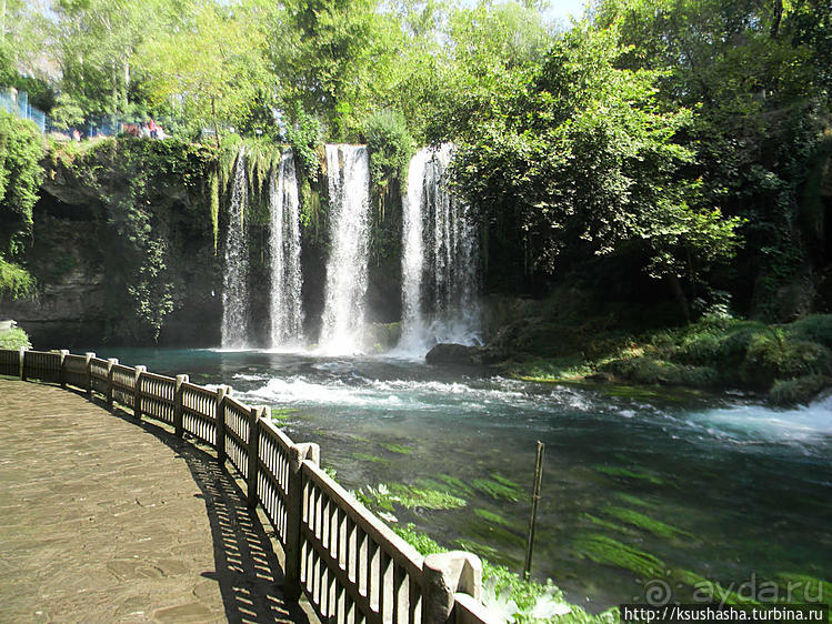
<svg viewBox="0 0 832 624"><path fill-rule="evenodd" d="M321 350L360 348L367 292L370 158L363 145L327 145L331 245L321 320Z"/></svg>

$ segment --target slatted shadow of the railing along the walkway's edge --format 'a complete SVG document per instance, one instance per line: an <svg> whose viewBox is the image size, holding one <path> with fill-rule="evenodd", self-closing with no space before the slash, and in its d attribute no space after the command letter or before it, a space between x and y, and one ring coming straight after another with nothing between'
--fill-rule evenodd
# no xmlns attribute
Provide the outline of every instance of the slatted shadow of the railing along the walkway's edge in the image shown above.
<svg viewBox="0 0 832 624"><path fill-rule="evenodd" d="M103 409L107 404L96 400ZM144 430L184 460L206 502L213 541L214 571L202 576L219 583L229 622L292 622L309 624L297 602L283 600L283 571L270 531L258 513L247 509L245 493L217 457L177 437L164 427L118 407L112 414Z"/></svg>

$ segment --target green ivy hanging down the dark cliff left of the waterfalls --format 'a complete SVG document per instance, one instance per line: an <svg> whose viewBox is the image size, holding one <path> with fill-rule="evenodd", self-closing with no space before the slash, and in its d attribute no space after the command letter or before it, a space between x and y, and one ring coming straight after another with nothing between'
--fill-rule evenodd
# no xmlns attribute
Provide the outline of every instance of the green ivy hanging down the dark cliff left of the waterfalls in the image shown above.
<svg viewBox="0 0 832 624"><path fill-rule="evenodd" d="M206 182L215 162L214 150L177 140L108 139L50 151L50 174L72 180L74 192L84 193L106 224L109 240L101 248L112 253L103 269L119 308L133 313L130 333L137 339L157 339L164 318L181 303L181 273L169 266L171 246L180 256L183 228L193 239L213 230ZM190 223L180 223L183 218Z"/></svg>

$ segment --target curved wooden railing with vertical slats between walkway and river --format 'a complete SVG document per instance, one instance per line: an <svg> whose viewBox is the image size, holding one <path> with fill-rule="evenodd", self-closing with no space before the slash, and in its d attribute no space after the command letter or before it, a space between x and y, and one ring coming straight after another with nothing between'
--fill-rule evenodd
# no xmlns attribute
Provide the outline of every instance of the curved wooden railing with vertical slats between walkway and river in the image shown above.
<svg viewBox="0 0 832 624"><path fill-rule="evenodd" d="M210 444L245 480L285 554L284 596L305 594L322 622L477 624L482 566L463 552L422 557L320 467L317 444L295 444L221 385L169 378L94 353L0 350L0 375L73 386Z"/></svg>

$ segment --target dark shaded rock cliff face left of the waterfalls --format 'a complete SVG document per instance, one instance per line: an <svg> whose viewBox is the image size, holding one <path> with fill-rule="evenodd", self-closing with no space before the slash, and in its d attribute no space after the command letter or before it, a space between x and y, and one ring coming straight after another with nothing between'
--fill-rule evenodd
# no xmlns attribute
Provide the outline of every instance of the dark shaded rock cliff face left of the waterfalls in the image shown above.
<svg viewBox="0 0 832 624"><path fill-rule="evenodd" d="M0 299L0 318L14 319L36 349L152 344L147 305L159 300L160 344L218 344L221 273L208 201L192 180L187 189L183 174L158 164L113 174L113 150L129 160L131 145L103 148L88 162L46 163L22 259L37 295ZM163 250L156 265L147 261L152 244Z"/></svg>

